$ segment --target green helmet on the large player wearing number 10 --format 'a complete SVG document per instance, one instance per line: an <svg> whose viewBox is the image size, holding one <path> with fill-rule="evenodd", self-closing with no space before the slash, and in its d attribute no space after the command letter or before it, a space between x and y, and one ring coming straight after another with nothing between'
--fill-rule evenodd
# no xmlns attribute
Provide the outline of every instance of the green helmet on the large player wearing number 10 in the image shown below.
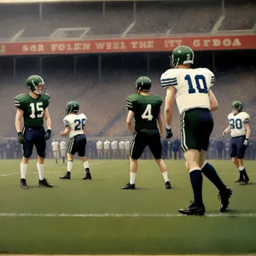
<svg viewBox="0 0 256 256"><path fill-rule="evenodd" d="M172 51L171 67L176 68L177 65L193 64L194 57L194 51L189 46L178 46Z"/></svg>

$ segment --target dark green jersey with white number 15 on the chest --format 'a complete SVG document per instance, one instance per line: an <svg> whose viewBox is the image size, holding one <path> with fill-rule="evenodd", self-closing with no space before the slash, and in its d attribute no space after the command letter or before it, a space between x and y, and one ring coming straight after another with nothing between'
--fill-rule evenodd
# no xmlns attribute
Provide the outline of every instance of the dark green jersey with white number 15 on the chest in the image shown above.
<svg viewBox="0 0 256 256"><path fill-rule="evenodd" d="M49 106L50 97L42 94L37 99L28 93L22 93L15 97L15 107L24 111L24 125L26 127L43 127L44 110Z"/></svg>

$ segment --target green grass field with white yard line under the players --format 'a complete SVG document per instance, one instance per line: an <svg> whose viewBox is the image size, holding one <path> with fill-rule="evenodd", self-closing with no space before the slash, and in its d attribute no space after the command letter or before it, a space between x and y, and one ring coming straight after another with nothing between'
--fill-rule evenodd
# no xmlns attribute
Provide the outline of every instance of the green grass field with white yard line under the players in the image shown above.
<svg viewBox="0 0 256 256"><path fill-rule="evenodd" d="M168 160L173 189L166 190L153 160L140 160L136 190L128 160L91 160L93 180L81 180L74 162L71 180L61 180L66 165L47 160L45 177L54 188L38 187L36 161L20 189L20 160L0 161L0 253L256 253L256 162L246 161L252 183L234 183L231 161L212 161L233 189L230 212L218 211L218 190L204 178L205 217L180 216L192 189L183 160Z"/></svg>

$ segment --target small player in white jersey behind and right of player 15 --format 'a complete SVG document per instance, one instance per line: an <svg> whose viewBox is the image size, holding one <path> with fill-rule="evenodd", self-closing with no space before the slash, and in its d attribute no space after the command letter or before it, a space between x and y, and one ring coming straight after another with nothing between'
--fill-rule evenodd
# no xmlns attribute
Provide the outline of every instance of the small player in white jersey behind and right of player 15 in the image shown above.
<svg viewBox="0 0 256 256"><path fill-rule="evenodd" d="M86 120L87 118L84 113L79 113L79 102L67 103L67 116L63 119L65 130L61 131L61 136L69 134L70 140L67 148L67 173L61 176L61 179L70 179L73 167L73 155L76 153L79 154L86 172L83 179L91 179L89 163L85 157Z"/></svg>

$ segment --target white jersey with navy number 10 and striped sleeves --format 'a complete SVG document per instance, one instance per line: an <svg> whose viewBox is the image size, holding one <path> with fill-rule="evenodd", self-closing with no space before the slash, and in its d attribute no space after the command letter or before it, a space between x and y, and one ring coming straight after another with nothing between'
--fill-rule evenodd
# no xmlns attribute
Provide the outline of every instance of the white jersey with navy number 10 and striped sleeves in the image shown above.
<svg viewBox="0 0 256 256"><path fill-rule="evenodd" d="M210 109L208 90L215 82L214 74L207 68L171 68L161 75L164 88L176 88L179 113L192 108Z"/></svg>

